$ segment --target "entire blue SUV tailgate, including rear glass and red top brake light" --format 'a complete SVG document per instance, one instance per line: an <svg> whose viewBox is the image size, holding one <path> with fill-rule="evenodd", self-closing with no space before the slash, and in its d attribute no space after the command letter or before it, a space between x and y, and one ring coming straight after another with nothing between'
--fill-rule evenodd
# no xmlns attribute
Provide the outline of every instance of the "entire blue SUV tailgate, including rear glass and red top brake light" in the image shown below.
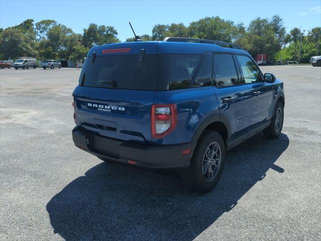
<svg viewBox="0 0 321 241"><path fill-rule="evenodd" d="M157 43L92 48L74 90L77 126L121 141L151 144Z"/></svg>

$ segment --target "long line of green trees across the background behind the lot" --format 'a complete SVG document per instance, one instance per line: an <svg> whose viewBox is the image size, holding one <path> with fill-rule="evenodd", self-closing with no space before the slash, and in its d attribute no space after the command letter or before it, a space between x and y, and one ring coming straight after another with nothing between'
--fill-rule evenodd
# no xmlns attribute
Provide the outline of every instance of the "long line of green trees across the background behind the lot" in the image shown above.
<svg viewBox="0 0 321 241"><path fill-rule="evenodd" d="M0 28L0 58L16 59L20 56L35 56L40 59L80 60L88 50L106 42L119 42L117 31L112 26L90 24L83 34L76 34L70 28L55 20L34 23L27 19L7 29ZM293 61L298 59L300 37L302 36L301 62L307 63L311 56L321 50L321 28L311 29L306 36L299 28L286 33L278 15L256 18L249 26L234 24L217 17L206 17L192 22L157 24L152 35L141 35L143 41L163 40L165 37L186 37L220 40L239 44L255 58L257 54L268 54L271 61ZM133 37L126 39L134 41Z"/></svg>

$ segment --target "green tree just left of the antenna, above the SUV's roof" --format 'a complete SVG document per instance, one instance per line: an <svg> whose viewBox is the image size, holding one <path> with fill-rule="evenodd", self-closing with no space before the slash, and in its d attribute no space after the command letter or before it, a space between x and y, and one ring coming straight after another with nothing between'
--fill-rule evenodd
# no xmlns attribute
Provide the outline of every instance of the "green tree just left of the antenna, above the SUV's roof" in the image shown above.
<svg viewBox="0 0 321 241"><path fill-rule="evenodd" d="M117 34L112 26L90 24L88 29L84 29L83 44L87 48L92 48L107 42L119 42Z"/></svg>

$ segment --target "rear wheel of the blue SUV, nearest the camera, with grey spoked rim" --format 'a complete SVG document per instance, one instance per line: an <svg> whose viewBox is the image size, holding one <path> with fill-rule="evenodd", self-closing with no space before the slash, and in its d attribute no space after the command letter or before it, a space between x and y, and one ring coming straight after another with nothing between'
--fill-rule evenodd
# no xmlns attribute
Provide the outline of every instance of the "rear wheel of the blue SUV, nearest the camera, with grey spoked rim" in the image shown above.
<svg viewBox="0 0 321 241"><path fill-rule="evenodd" d="M208 165L208 160L211 165ZM221 177L224 160L225 146L222 136L216 131L206 129L195 148L190 167L183 171L185 184L193 191L211 191Z"/></svg>

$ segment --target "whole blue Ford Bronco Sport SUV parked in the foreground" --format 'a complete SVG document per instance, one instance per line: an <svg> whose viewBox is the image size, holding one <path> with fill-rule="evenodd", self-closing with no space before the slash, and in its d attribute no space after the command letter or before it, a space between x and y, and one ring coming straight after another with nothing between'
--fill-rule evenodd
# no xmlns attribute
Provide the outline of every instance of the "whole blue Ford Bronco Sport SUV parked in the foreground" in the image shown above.
<svg viewBox="0 0 321 241"><path fill-rule="evenodd" d="M219 41L93 47L73 97L76 147L103 161L179 168L199 192L217 184L226 151L260 131L277 138L283 125L283 83Z"/></svg>

